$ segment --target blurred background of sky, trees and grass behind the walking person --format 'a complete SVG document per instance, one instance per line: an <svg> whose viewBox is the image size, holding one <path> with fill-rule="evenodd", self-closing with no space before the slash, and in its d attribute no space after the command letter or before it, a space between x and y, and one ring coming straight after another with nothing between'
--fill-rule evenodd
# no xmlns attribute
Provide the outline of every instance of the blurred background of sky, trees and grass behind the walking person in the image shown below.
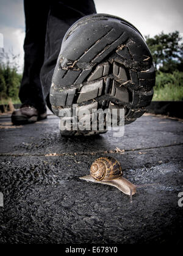
<svg viewBox="0 0 183 256"><path fill-rule="evenodd" d="M79 1L78 1L79 2ZM183 1L95 0L98 13L134 24L156 67L154 101L183 100ZM0 105L20 103L25 35L23 0L0 0Z"/></svg>

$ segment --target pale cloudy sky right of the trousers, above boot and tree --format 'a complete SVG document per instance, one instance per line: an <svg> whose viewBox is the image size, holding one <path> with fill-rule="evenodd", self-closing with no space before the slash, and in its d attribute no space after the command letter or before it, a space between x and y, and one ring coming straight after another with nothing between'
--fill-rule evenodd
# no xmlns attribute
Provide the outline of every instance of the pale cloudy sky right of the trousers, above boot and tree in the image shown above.
<svg viewBox="0 0 183 256"><path fill-rule="evenodd" d="M151 37L160 32L183 32L182 0L96 0L99 13L120 16Z"/></svg>

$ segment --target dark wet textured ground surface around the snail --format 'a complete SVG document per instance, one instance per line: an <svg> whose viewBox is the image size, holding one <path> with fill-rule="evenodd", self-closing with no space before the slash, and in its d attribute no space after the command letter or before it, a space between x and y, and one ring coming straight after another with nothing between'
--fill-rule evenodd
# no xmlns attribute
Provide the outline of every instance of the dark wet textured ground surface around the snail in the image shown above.
<svg viewBox="0 0 183 256"><path fill-rule="evenodd" d="M0 117L0 243L182 243L182 120L146 114L123 137L65 138L58 123ZM131 203L117 188L80 180L100 156L118 159L132 183L153 184Z"/></svg>

